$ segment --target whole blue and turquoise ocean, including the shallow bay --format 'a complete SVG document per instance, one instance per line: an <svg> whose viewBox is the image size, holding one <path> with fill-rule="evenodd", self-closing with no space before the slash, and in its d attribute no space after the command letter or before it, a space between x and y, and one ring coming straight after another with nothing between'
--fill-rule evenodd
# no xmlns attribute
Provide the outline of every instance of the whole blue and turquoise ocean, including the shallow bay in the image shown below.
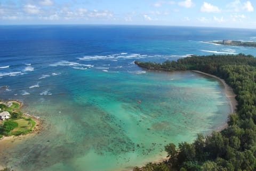
<svg viewBox="0 0 256 171"><path fill-rule="evenodd" d="M1 25L0 99L42 119L39 134L10 140L0 165L16 170L129 170L193 142L230 113L223 85L191 71L158 72L134 61L251 54L206 43L255 41L256 30L135 25ZM0 142L0 146L1 146Z"/></svg>

